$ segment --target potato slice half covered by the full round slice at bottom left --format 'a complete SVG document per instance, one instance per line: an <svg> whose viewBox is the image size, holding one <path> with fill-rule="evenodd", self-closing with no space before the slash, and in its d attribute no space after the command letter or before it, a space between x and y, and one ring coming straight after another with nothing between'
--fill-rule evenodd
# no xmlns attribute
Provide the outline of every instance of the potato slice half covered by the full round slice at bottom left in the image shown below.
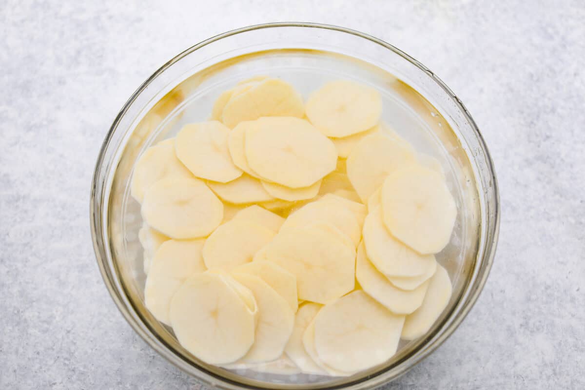
<svg viewBox="0 0 585 390"><path fill-rule="evenodd" d="M207 269L201 256L203 243L201 239L168 240L156 251L146 278L144 303L160 322L170 325L171 299L183 281Z"/></svg>

